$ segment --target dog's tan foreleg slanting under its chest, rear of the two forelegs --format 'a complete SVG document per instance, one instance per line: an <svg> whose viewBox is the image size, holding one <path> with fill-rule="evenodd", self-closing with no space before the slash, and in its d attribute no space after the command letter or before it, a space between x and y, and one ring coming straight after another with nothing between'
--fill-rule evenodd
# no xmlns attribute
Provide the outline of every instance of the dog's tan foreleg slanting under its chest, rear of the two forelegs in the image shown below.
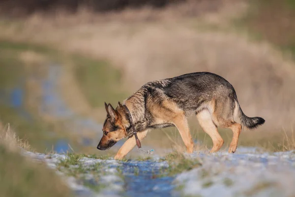
<svg viewBox="0 0 295 197"><path fill-rule="evenodd" d="M184 145L186 146L186 151L188 153L193 153L194 151L194 142L193 138L191 136L191 133L189 131L187 119L184 114L181 114L177 116L173 120L174 125L176 126L177 130L179 131L179 134L182 138L182 141Z"/></svg>

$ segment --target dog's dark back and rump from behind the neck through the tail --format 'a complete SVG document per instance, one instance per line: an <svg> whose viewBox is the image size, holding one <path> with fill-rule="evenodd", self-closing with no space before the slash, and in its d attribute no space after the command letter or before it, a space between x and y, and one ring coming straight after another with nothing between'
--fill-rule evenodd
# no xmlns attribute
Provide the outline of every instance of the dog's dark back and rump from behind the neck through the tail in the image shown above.
<svg viewBox="0 0 295 197"><path fill-rule="evenodd" d="M241 110L234 87L223 77L210 72L194 72L145 84L145 98L150 104L169 100L186 114L206 109L215 125L227 128L233 122L252 129L264 123L260 117L249 118Z"/></svg>

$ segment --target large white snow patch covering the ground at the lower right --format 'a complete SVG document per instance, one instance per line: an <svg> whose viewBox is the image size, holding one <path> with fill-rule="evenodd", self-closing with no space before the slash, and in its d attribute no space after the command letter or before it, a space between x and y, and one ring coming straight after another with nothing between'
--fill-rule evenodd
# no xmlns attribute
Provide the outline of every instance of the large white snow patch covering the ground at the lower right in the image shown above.
<svg viewBox="0 0 295 197"><path fill-rule="evenodd" d="M249 153L247 153L249 152ZM191 154L202 167L177 175L184 195L202 197L290 197L295 195L295 152Z"/></svg>

